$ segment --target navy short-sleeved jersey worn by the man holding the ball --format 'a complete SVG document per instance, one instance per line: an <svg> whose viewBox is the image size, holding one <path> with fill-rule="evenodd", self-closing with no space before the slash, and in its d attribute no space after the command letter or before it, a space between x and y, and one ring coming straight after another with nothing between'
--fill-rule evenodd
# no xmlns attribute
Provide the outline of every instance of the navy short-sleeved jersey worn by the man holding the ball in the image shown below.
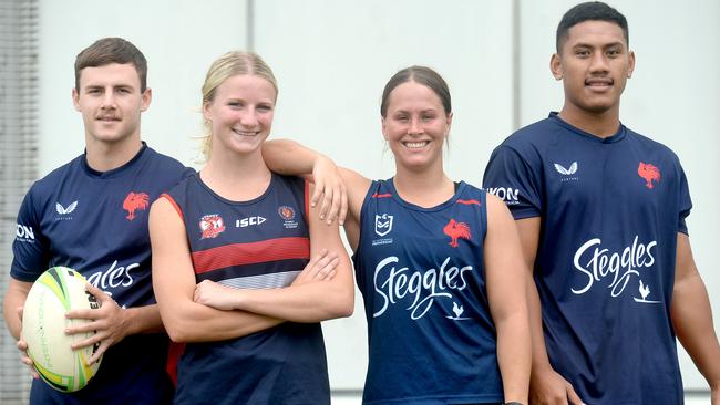
<svg viewBox="0 0 720 405"><path fill-rule="evenodd" d="M131 162L109 172L93 170L84 155L53 170L22 201L10 276L33 282L48 268L65 266L123 308L155 303L148 209L188 170L144 143ZM63 394L35 380L30 402L167 403L167 344L164 333L127 336L107 350L86 387Z"/></svg>

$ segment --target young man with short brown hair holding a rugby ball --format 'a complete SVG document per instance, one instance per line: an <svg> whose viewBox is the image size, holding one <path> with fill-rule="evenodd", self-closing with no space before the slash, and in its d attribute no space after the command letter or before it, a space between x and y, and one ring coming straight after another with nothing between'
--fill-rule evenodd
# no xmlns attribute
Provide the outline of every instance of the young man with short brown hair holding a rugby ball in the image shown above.
<svg viewBox="0 0 720 405"><path fill-rule="evenodd" d="M32 282L49 267L66 266L90 282L97 310L73 311L88 319L69 333L96 331L76 344L99 343L103 355L83 390L65 394L33 380L32 404L162 404L172 401L165 372L167 335L152 289L147 231L150 204L185 175L183 165L141 141L141 115L152 92L145 56L132 43L99 40L75 60L72 98L83 118L85 153L38 180L18 215L11 280L4 298L8 328L20 339ZM27 344L19 341L18 347ZM31 364L30 359L23 362Z"/></svg>

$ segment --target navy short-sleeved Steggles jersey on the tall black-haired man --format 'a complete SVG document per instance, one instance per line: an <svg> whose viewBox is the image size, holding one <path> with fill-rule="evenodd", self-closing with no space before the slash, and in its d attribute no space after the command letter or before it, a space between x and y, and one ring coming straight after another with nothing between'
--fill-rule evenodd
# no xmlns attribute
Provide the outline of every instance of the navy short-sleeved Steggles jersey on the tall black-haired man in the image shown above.
<svg viewBox="0 0 720 405"><path fill-rule="evenodd" d="M555 113L492 154L484 187L541 217L535 282L553 367L586 404L681 404L670 301L691 202L677 156Z"/></svg>

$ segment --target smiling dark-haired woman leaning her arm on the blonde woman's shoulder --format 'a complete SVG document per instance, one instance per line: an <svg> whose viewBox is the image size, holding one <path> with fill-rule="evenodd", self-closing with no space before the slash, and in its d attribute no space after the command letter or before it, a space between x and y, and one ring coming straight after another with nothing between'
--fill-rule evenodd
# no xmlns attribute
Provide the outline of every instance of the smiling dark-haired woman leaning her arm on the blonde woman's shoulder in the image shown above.
<svg viewBox="0 0 720 405"><path fill-rule="evenodd" d="M445 81L404 69L385 85L380 113L394 177L340 169L368 320L363 403L527 404L528 270L504 204L443 172L453 117ZM264 153L282 173L331 166L289 141Z"/></svg>

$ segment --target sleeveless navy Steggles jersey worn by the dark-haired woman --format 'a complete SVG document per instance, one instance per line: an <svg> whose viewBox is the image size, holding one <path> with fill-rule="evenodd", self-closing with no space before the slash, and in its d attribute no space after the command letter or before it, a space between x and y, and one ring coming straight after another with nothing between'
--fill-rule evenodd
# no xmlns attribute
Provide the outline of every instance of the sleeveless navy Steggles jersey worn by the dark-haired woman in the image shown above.
<svg viewBox="0 0 720 405"><path fill-rule="evenodd" d="M500 403L483 262L485 193L422 208L373 181L353 256L368 320L366 404Z"/></svg>

